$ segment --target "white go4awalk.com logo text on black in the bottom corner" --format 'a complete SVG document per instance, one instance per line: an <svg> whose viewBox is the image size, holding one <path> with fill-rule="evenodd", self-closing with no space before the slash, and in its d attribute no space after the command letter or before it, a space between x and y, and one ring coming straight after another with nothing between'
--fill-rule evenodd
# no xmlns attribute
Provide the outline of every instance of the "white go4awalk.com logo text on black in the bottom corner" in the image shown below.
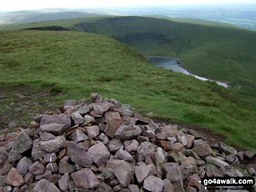
<svg viewBox="0 0 256 192"><path fill-rule="evenodd" d="M205 190L248 190L253 191L255 180L253 177L208 177L207 171L205 175L198 181Z"/></svg>

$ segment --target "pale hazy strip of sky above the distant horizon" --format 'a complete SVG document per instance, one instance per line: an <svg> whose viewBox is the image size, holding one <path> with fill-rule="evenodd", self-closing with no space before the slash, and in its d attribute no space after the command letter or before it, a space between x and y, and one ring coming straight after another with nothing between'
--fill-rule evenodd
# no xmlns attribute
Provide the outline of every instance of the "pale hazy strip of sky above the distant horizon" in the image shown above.
<svg viewBox="0 0 256 192"><path fill-rule="evenodd" d="M256 0L0 0L0 11L195 3L256 3Z"/></svg>

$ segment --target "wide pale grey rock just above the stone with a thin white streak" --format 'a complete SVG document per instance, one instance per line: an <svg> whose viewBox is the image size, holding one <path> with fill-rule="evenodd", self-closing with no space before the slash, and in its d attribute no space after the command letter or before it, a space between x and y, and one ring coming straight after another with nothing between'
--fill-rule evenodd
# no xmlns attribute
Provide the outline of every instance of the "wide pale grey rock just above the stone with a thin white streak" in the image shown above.
<svg viewBox="0 0 256 192"><path fill-rule="evenodd" d="M63 136L58 136L49 141L40 141L39 142L40 148L48 153L58 152L65 145L66 145L66 139Z"/></svg>

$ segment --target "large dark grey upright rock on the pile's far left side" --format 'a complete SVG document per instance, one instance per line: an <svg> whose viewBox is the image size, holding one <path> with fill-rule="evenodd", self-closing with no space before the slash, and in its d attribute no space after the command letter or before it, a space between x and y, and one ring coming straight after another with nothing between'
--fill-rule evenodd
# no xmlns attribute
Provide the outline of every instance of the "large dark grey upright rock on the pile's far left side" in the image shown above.
<svg viewBox="0 0 256 192"><path fill-rule="evenodd" d="M19 153L26 153L32 149L33 140L24 132L21 132L14 142L14 150Z"/></svg>

